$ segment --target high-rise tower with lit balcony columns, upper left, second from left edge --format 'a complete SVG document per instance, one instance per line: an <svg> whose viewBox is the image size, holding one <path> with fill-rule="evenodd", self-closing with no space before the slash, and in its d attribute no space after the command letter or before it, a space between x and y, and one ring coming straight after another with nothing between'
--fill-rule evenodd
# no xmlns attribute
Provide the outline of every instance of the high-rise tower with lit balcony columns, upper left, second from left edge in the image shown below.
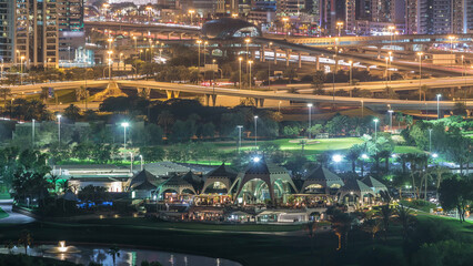
<svg viewBox="0 0 473 266"><path fill-rule="evenodd" d="M58 65L58 7L54 0L12 0L14 62L28 66Z"/></svg>

